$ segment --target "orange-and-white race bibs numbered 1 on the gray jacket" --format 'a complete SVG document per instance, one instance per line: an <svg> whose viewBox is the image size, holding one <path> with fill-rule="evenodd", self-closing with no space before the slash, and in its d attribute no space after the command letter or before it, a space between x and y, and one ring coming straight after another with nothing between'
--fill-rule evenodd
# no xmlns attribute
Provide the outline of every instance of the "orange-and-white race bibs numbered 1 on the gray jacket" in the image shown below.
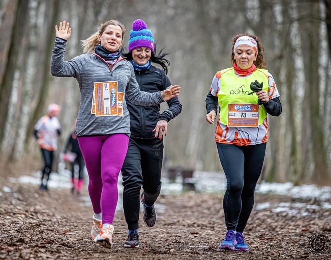
<svg viewBox="0 0 331 260"><path fill-rule="evenodd" d="M124 93L117 92L117 81L94 82L91 113L95 116L123 116Z"/></svg>

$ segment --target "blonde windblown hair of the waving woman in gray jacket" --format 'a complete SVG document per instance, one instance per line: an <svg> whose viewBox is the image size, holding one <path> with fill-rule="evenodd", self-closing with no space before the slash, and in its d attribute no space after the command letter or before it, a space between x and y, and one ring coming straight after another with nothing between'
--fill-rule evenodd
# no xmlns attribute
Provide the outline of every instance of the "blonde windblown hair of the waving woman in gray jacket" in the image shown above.
<svg viewBox="0 0 331 260"><path fill-rule="evenodd" d="M124 38L124 34L125 34L125 27L122 23L120 23L117 20L109 20L106 21L105 23L100 25L100 28L98 31L96 31L95 33L93 33L90 37L88 37L86 40L82 40L82 46L83 46L83 52L84 53L93 53L95 47L100 43L98 41L98 36L99 34L102 35L102 33L104 33L105 29L107 28L108 25L115 25L115 26L119 26L122 29L122 41Z"/></svg>

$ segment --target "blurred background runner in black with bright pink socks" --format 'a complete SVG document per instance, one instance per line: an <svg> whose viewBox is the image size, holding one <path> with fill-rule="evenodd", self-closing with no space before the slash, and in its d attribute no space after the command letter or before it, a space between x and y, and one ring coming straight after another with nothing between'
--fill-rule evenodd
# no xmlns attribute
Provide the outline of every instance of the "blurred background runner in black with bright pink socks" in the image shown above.
<svg viewBox="0 0 331 260"><path fill-rule="evenodd" d="M75 126L76 126L76 120L75 120ZM68 153L68 150L70 152ZM83 180L84 180L84 158L80 151L78 139L76 136L75 131L70 133L67 145L65 146L64 150L64 160L69 161L71 165L71 192L74 193L75 191L79 195L82 190ZM75 177L75 167L78 168L78 176Z"/></svg>

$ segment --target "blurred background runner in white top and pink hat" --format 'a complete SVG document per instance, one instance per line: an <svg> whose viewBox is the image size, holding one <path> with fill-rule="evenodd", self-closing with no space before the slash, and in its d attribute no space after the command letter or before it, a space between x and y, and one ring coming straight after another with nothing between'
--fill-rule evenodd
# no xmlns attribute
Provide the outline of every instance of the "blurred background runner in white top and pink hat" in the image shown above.
<svg viewBox="0 0 331 260"><path fill-rule="evenodd" d="M41 190L48 189L48 180L52 172L54 153L57 149L57 136L61 134L61 125L57 118L60 111L60 106L50 104L47 109L47 115L41 117L34 126L34 136L38 141L44 161L41 174Z"/></svg>

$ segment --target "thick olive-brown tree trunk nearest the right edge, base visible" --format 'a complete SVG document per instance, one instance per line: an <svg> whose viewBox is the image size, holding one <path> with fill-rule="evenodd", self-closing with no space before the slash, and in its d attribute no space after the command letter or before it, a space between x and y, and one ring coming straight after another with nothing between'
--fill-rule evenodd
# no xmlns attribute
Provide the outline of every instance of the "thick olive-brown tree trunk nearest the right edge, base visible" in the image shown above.
<svg viewBox="0 0 331 260"><path fill-rule="evenodd" d="M301 23L301 35L303 42L304 69L307 78L305 100L303 105L307 107L308 125L310 127L310 136L304 136L310 140L312 148L312 158L314 161L313 179L319 184L323 184L328 179L327 154L324 143L323 118L320 112L320 86L319 86L319 26L320 22L317 14L320 13L319 2L307 3L308 19ZM305 115L304 115L305 116ZM305 122L303 121L303 122ZM307 140L303 140L307 142ZM305 147L306 149L309 146ZM308 152L307 150L305 151ZM304 158L305 159L305 158ZM303 169L303 171L306 171Z"/></svg>

